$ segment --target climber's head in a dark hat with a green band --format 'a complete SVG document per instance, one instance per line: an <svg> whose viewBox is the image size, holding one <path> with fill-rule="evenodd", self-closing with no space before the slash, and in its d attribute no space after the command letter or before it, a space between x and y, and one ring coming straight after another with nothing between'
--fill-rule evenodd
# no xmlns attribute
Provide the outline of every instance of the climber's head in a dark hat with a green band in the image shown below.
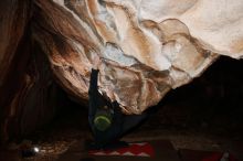
<svg viewBox="0 0 243 161"><path fill-rule="evenodd" d="M94 126L99 131L107 130L112 125L112 111L107 107L97 109Z"/></svg>

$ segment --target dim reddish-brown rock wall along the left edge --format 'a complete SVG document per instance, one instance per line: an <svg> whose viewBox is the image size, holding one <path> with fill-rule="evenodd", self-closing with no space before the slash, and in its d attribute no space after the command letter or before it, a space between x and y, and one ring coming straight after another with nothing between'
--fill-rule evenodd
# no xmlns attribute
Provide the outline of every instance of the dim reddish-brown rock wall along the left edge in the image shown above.
<svg viewBox="0 0 243 161"><path fill-rule="evenodd" d="M9 125L15 126L20 114L21 94L27 92L24 71L30 57L28 35L24 30L29 20L30 1L0 2L0 141L8 139ZM18 23L15 23L18 22ZM13 124L14 122L14 124Z"/></svg>

